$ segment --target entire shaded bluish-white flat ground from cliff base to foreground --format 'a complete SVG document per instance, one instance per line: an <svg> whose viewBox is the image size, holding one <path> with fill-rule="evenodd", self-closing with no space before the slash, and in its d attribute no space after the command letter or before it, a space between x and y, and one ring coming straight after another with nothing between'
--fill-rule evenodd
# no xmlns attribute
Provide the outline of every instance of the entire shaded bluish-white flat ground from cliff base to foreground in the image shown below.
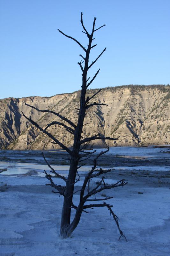
<svg viewBox="0 0 170 256"><path fill-rule="evenodd" d="M123 188L104 192L114 196L107 202L114 205L128 242L118 241L116 224L105 208L83 213L72 236L60 239L63 198L45 186L43 169L48 167L43 165L41 152L1 151L0 168L8 170L0 173L0 186L7 183L10 188L0 192L0 256L169 256L170 157L160 150L111 148L100 160L103 168L107 163L113 169L106 176L107 183L128 181ZM65 161L64 152L46 154L54 168L67 175L68 166L56 165ZM80 171L76 190L88 169ZM55 183L63 184L56 178ZM78 200L75 194L74 204Z"/></svg>

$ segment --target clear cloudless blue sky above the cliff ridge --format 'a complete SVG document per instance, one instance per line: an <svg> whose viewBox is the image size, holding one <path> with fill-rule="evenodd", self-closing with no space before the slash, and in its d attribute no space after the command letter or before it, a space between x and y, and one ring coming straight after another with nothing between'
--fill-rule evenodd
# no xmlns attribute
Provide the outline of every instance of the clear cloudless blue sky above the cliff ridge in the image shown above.
<svg viewBox="0 0 170 256"><path fill-rule="evenodd" d="M95 35L91 88L170 83L169 0L0 0L0 98L52 96L80 89L80 14Z"/></svg>

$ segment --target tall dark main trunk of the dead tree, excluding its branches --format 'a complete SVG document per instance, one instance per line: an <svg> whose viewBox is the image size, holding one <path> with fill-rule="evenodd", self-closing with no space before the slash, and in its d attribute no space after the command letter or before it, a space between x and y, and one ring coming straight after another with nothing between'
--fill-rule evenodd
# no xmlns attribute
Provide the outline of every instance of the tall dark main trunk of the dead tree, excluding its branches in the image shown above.
<svg viewBox="0 0 170 256"><path fill-rule="evenodd" d="M92 31L93 34L93 31ZM73 150L70 160L70 169L69 175L67 178L67 185L66 185L66 193L64 197L63 203L63 211L62 211L62 219L61 219L61 228L60 228L60 236L66 238L70 236L73 229L69 227L70 225L70 214L71 214L71 204L72 204L72 197L74 192L74 182L76 179L77 168L78 168L78 160L79 160L79 150L80 150L80 139L83 129L83 123L85 118L85 95L86 95L86 85L87 85L87 71L88 71L88 62L89 62L89 54L91 50L92 44L92 35L89 38L88 49L86 51L85 56L85 66L84 69L82 68L82 90L80 96L80 109L78 115L78 123L75 130L74 135L74 143L73 143ZM80 67L82 67L81 62L79 63ZM72 185L71 185L72 184ZM81 215L80 215L81 216ZM77 225L76 225L77 226Z"/></svg>

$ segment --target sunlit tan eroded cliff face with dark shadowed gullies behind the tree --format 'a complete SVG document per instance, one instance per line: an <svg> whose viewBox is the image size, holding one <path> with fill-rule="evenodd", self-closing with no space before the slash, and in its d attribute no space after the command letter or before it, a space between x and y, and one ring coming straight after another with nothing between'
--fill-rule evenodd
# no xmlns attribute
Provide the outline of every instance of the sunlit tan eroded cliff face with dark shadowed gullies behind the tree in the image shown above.
<svg viewBox="0 0 170 256"><path fill-rule="evenodd" d="M95 90L88 90L91 96ZM37 128L31 126L22 112L42 128L59 120L51 113L39 113L25 102L39 109L49 109L77 122L80 91L53 97L7 98L0 100L0 149L55 149L56 144ZM142 146L170 142L170 86L120 86L104 88L95 98L108 106L89 108L85 117L84 137L96 133L118 138L116 141L96 140L93 147ZM61 121L61 120L60 120ZM63 144L72 145L73 136L58 125L48 128Z"/></svg>

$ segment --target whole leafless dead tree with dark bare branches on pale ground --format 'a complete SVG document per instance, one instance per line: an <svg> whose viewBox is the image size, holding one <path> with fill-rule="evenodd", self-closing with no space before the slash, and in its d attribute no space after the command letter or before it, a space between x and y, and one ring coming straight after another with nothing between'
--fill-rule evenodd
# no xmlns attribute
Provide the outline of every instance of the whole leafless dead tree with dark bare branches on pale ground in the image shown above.
<svg viewBox="0 0 170 256"><path fill-rule="evenodd" d="M41 109L38 109L34 106L31 106L31 105L25 103L27 106L34 108L39 112L52 113L61 119L61 122L54 121L54 122L48 124L45 129L43 129L39 126L39 124L34 122L31 118L28 118L27 116L25 116L23 113L23 116L25 116L25 118L31 124L36 126L41 132L45 133L53 141L53 143L58 144L61 148L63 148L70 154L70 169L69 169L68 177L66 179L65 177L63 177L63 176L59 175L57 172L55 172L55 170L51 167L51 165L46 160L44 154L42 153L45 162L48 164L49 168L51 169L51 172L54 173L56 177L61 178L62 180L65 181L65 186L56 185L54 183L52 177L50 175L48 175L48 173L45 171L46 178L50 182L47 185L50 185L55 189L55 191L53 191L54 193L63 196L63 210L62 210L62 216L61 216L61 229L60 229L60 236L62 238L67 238L71 235L71 233L74 231L74 229L77 227L77 225L79 223L82 212L87 213L87 211L86 211L87 209L89 209L89 208L92 209L94 207L107 207L107 209L110 211L110 214L113 216L113 218L117 224L117 227L120 232L120 237L122 237L122 236L125 237L119 227L118 217L114 214L114 212L112 210L113 205L110 205L110 204L107 204L106 202L104 202L105 200L111 199L113 197L106 197L106 198L96 198L95 197L94 198L94 196L96 196L99 192L101 192L105 189L120 187L120 186L124 186L127 184L127 183L125 183L124 180L119 180L117 183L115 183L113 185L107 185L104 181L103 175L107 172L110 172L110 169L109 170L103 170L102 168L97 169L97 159L102 154L105 154L109 150L109 148L106 151L101 152L99 155L97 155L95 157L94 165L93 165L91 171L89 171L88 174L85 176L83 186L80 190L79 204L78 204L78 206L76 206L73 203L73 195L76 192L78 192L78 191L74 192L74 185L79 180L78 168L80 168L82 166L82 165L79 165L79 163L82 161L82 159L85 160L85 159L89 158L91 156L91 154L95 153L95 150L92 152L85 151L84 150L85 143L90 142L92 140L99 140L99 139L116 140L116 139L113 139L110 137L101 136L101 134L95 134L94 136L85 138L85 139L82 139L82 136L81 136L84 119L85 119L85 115L86 115L86 110L91 108L92 106L107 105L107 104L97 103L97 102L92 101L92 99L101 91L101 89L98 92L94 93L91 97L86 97L86 90L90 86L90 84L92 84L93 80L98 75L100 69L96 72L96 74L92 77L91 80L90 80L90 78L87 78L88 70L93 66L94 63L96 63L96 61L100 58L100 56L103 54L103 52L106 51L106 48L105 48L99 54L99 56L94 61L92 61L91 64L89 63L90 51L97 45L97 44L92 44L92 42L94 40L94 33L97 30L99 30L100 28L105 26L105 25L103 25L103 26L100 26L99 28L95 28L95 22L96 22L96 18L94 18L94 20L93 20L92 32L89 33L84 26L83 13L81 13L81 25L83 27L82 32L85 33L85 35L88 38L87 48L85 48L78 40L76 40L72 36L68 36L68 35L64 34L61 30L58 29L58 31L62 35L75 41L83 49L83 51L85 53L84 56L82 54L79 55L82 58L82 60L80 62L78 62L78 65L80 66L81 71L82 71L82 86L81 86L81 96L80 96L80 107L78 108L79 113L78 113L77 124L74 124L70 119L62 116L59 113L56 113L54 111L47 110L47 109L41 110ZM65 146L56 137L54 137L50 132L48 132L48 127L50 127L51 125L56 125L56 124L62 126L63 128L66 129L67 132L70 132L73 135L74 142L73 142L72 149ZM76 179L76 175L78 175L78 179ZM97 184L95 188L91 188L90 181L92 180L92 178L98 177L98 176L102 176L99 184ZM86 188L87 188L87 191L86 191ZM103 203L102 204L94 204L93 202L95 202L95 201L103 201ZM90 204L87 204L87 202L90 202ZM72 209L75 209L76 212L75 212L74 219L70 222L70 214L71 214Z"/></svg>

